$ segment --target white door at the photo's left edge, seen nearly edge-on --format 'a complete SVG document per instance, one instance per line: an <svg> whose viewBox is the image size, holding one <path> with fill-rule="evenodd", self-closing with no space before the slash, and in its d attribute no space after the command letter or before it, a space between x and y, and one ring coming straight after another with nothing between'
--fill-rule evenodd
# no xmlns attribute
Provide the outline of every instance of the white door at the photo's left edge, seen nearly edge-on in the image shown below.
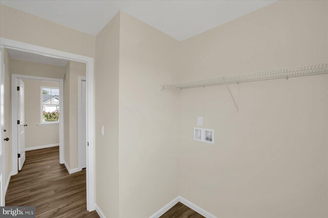
<svg viewBox="0 0 328 218"><path fill-rule="evenodd" d="M5 206L4 49L0 49L0 206Z"/></svg>

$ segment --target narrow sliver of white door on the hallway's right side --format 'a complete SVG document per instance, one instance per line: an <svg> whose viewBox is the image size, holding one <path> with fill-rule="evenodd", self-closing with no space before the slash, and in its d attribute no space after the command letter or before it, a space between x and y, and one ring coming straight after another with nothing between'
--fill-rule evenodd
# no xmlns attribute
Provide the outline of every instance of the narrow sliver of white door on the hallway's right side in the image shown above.
<svg viewBox="0 0 328 218"><path fill-rule="evenodd" d="M81 168L87 167L87 82L81 81Z"/></svg>

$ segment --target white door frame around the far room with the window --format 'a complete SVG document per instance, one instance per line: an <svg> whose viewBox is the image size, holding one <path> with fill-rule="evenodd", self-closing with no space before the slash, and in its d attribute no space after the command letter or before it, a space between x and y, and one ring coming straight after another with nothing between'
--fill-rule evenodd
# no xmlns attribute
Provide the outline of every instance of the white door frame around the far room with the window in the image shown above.
<svg viewBox="0 0 328 218"><path fill-rule="evenodd" d="M64 80L63 79L55 79L48 77L35 77L35 76L27 76L27 75L11 75L11 133L12 133L12 175L16 175L18 173L18 132L17 132L17 109L18 109L18 99L17 99L17 89L18 79L28 79L28 80L41 80L47 82L58 82L59 83L59 99L64 99ZM59 101L59 108L64 108L64 101ZM59 163L64 163L64 110L59 110Z"/></svg>

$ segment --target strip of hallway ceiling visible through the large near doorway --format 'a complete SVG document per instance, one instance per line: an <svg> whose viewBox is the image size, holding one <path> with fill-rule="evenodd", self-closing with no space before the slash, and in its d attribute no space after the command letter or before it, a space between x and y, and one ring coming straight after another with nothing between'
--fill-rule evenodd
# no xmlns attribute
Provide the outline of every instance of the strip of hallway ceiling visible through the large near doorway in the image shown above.
<svg viewBox="0 0 328 218"><path fill-rule="evenodd" d="M7 51L10 58L15 60L30 61L30 62L42 63L42 64L51 64L57 66L66 66L66 64L68 63L68 60L65 59L51 58L47 56L22 52L13 49L7 49Z"/></svg>

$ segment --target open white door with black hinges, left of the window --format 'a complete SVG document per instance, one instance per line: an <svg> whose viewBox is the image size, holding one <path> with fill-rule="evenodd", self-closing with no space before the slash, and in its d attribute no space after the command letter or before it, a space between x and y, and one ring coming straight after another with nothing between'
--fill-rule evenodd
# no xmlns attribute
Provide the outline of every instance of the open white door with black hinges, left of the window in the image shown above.
<svg viewBox="0 0 328 218"><path fill-rule="evenodd" d="M24 82L17 79L17 139L18 139L18 171L23 167L25 161L25 104L24 104Z"/></svg>

